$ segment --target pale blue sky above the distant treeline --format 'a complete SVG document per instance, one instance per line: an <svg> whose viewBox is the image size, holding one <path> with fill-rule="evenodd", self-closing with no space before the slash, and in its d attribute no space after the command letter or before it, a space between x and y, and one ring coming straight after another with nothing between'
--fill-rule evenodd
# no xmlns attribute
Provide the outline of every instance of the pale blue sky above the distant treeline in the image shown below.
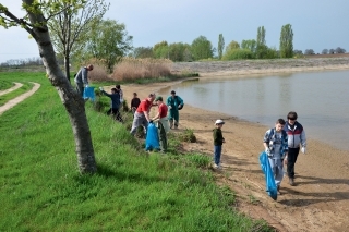
<svg viewBox="0 0 349 232"><path fill-rule="evenodd" d="M291 24L293 49L344 48L349 52L349 0L105 0L105 19L125 24L134 47L153 47L166 40L192 41L205 36L213 47L222 34L226 46L234 40L256 39L264 26L266 45L278 49L282 25ZM21 0L0 0L19 17L25 15ZM34 39L19 27L0 28L0 63L37 58Z"/></svg>

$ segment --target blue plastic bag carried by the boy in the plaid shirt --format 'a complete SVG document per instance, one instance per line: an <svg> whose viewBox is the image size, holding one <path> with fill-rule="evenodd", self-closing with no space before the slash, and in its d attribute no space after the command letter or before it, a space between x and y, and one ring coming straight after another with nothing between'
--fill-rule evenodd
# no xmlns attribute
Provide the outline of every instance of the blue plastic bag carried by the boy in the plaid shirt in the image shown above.
<svg viewBox="0 0 349 232"><path fill-rule="evenodd" d="M266 184L266 192L268 192L268 195L276 200L277 199L277 186L275 184L274 173L270 168L268 155L266 152L262 152L260 155L260 164L262 168L262 171L265 174L265 184Z"/></svg>

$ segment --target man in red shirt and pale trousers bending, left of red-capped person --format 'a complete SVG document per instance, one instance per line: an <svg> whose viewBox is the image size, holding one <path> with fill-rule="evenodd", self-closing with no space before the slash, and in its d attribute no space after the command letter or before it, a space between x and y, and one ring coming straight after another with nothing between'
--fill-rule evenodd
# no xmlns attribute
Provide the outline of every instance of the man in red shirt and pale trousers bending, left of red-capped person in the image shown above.
<svg viewBox="0 0 349 232"><path fill-rule="evenodd" d="M146 134L146 129L148 127L148 123L153 122L149 117L151 108L153 107L153 101L155 99L155 94L149 94L148 97L141 101L136 111L133 115L133 122L130 133L132 135L135 134L137 127L142 125L144 127L144 133Z"/></svg>

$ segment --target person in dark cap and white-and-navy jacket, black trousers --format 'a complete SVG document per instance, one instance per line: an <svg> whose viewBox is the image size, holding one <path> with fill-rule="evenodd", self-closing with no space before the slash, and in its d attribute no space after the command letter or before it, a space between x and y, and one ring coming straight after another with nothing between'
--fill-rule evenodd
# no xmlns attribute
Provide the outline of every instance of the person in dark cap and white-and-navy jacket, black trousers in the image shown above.
<svg viewBox="0 0 349 232"><path fill-rule="evenodd" d="M287 164L287 175L289 178L289 184L294 185L294 164L299 154L300 145L302 145L302 154L305 154L306 137L303 126L297 121L297 112L290 111L287 114L287 123L284 127L288 135L288 157L285 158L285 164Z"/></svg>

